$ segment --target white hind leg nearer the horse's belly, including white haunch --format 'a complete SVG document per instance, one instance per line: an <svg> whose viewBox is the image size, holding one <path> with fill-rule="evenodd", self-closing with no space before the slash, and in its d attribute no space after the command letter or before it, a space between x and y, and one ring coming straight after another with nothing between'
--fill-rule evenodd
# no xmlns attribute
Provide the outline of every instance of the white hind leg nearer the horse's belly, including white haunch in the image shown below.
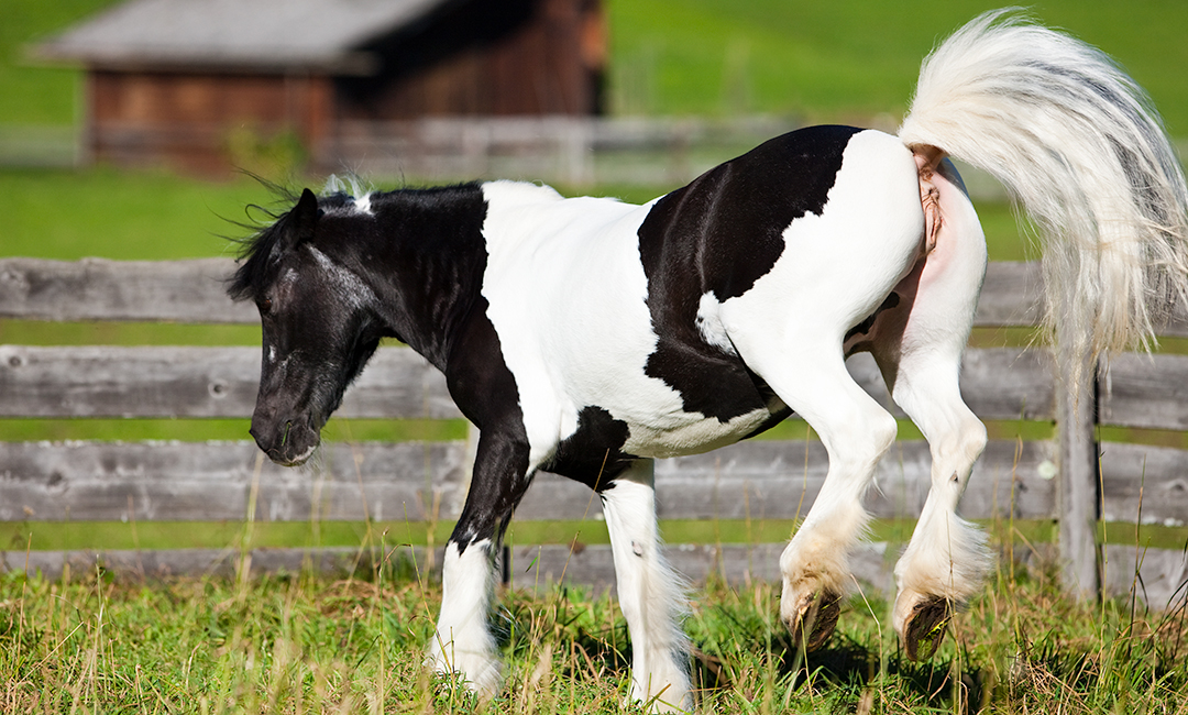
<svg viewBox="0 0 1188 715"><path fill-rule="evenodd" d="M772 270L719 312L742 361L829 455L821 493L781 557L781 616L809 647L829 637L852 584L862 496L896 436L895 418L846 371L843 340L910 272L923 219L911 152L892 137L855 134L821 214L792 221Z"/></svg>

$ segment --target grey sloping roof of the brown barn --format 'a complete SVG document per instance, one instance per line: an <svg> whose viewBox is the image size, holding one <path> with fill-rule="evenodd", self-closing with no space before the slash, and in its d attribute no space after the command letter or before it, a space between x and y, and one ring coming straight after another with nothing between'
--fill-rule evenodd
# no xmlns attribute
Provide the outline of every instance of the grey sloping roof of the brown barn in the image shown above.
<svg viewBox="0 0 1188 715"><path fill-rule="evenodd" d="M308 69L365 75L361 48L450 0L131 0L33 48L100 68Z"/></svg>

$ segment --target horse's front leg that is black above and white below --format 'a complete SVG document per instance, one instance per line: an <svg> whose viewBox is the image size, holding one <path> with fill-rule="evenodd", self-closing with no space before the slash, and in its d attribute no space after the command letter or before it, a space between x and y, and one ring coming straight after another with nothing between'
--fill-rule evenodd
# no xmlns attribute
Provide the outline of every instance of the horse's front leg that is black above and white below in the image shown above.
<svg viewBox="0 0 1188 715"><path fill-rule="evenodd" d="M529 485L527 444L484 432L462 515L446 544L442 609L429 646L429 665L457 673L485 696L501 683L488 616L494 597L494 553Z"/></svg>

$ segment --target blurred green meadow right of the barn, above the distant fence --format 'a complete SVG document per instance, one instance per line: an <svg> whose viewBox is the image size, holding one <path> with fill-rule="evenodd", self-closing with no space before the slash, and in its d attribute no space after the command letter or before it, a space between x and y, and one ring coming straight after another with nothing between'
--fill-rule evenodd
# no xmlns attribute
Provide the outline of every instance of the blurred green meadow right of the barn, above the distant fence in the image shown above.
<svg viewBox="0 0 1188 715"><path fill-rule="evenodd" d="M626 114L775 113L811 121L906 109L920 62L990 0L927 12L874 0L608 0L611 97ZM1031 6L1041 21L1100 46L1188 133L1188 5L1167 0Z"/></svg>

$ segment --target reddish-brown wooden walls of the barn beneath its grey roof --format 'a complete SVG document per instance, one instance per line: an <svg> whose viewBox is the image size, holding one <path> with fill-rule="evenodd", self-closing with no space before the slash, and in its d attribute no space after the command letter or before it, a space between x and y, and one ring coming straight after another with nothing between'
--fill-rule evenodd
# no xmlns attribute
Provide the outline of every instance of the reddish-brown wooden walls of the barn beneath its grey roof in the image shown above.
<svg viewBox="0 0 1188 715"><path fill-rule="evenodd" d="M423 116L589 115L606 63L599 0L448 2L432 17L356 48L369 77L248 69L88 72L90 158L226 175L253 166L241 146L292 132L318 169L340 163L343 121ZM238 148L236 148L238 147Z"/></svg>

